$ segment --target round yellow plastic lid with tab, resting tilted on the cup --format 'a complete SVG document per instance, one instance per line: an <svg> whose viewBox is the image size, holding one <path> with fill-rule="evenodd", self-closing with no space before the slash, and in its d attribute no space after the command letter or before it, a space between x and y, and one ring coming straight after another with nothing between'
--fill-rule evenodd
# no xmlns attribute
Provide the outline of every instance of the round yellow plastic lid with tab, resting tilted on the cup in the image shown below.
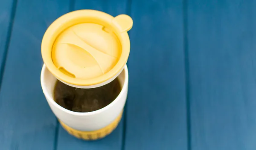
<svg viewBox="0 0 256 150"><path fill-rule="evenodd" d="M108 81L122 71L133 21L95 10L79 10L55 20L44 34L41 53L49 71L76 86Z"/></svg>

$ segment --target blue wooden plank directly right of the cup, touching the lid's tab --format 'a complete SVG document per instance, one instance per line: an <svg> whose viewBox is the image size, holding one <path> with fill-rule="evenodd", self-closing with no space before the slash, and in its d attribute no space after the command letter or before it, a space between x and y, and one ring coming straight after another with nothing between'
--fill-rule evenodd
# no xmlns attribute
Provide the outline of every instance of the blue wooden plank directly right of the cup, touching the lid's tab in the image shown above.
<svg viewBox="0 0 256 150"><path fill-rule="evenodd" d="M133 0L125 150L186 150L181 0Z"/></svg>

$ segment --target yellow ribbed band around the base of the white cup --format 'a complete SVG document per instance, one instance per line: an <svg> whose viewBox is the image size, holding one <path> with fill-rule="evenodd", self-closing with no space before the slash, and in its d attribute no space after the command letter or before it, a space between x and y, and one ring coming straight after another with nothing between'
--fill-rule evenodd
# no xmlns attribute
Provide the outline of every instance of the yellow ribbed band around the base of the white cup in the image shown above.
<svg viewBox="0 0 256 150"><path fill-rule="evenodd" d="M76 138L81 138L84 140L97 140L100 138L104 138L105 136L108 136L113 130L116 129L117 125L121 121L122 113L108 126L103 127L102 129L95 130L95 131L79 131L75 130L71 127L68 127L66 124L64 124L62 121L59 120L61 123L61 126L72 136L75 136Z"/></svg>

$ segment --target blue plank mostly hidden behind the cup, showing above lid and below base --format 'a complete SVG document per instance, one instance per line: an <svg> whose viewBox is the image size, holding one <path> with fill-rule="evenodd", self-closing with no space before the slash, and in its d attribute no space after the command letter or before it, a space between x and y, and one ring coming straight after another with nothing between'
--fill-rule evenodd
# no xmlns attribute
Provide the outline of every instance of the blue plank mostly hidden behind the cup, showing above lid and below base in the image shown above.
<svg viewBox="0 0 256 150"><path fill-rule="evenodd" d="M118 14L126 14L126 0L76 0L73 10L79 9L95 9L106 12L113 16ZM68 133L62 128L59 128L58 150L121 150L122 147L122 132L123 118L116 130L109 136L97 141L83 141Z"/></svg>

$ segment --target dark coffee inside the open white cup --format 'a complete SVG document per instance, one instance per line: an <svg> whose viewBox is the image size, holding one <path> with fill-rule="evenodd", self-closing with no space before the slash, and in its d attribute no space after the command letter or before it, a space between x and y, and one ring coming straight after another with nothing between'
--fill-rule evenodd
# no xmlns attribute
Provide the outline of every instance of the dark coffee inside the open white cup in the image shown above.
<svg viewBox="0 0 256 150"><path fill-rule="evenodd" d="M117 78L109 84L92 89L70 87L57 80L54 88L54 99L57 104L67 110L91 112L110 104L120 92L121 87Z"/></svg>

